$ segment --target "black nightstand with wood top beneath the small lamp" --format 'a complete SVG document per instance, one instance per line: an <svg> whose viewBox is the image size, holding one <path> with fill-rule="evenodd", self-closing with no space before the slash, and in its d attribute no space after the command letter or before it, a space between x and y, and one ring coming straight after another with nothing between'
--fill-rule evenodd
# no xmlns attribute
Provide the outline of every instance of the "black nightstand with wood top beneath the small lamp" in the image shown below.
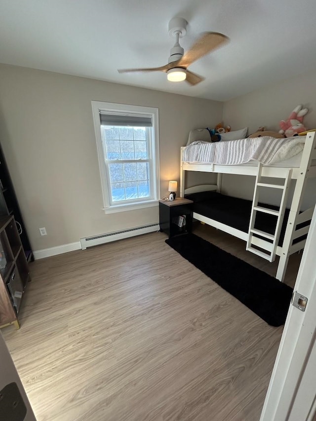
<svg viewBox="0 0 316 421"><path fill-rule="evenodd" d="M188 234L192 229L193 201L177 197L175 200L159 200L160 231L174 235Z"/></svg>

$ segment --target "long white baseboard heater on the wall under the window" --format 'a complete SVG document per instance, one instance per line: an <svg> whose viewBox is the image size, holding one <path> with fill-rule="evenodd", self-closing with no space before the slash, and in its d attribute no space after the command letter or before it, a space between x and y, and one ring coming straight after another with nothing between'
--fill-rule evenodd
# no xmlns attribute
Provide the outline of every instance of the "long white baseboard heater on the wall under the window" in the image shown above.
<svg viewBox="0 0 316 421"><path fill-rule="evenodd" d="M128 230L109 232L107 234L94 235L92 237L80 238L81 249L97 246L111 241L121 240L123 238L134 237L135 235L147 234L159 230L158 224L144 225L143 227L129 228Z"/></svg>

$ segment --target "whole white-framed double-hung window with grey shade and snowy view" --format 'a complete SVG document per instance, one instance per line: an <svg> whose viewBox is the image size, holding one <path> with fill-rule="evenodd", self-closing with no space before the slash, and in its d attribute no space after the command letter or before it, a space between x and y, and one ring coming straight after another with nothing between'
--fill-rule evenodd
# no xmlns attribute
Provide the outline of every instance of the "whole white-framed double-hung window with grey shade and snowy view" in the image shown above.
<svg viewBox="0 0 316 421"><path fill-rule="evenodd" d="M158 109L92 101L106 213L157 205Z"/></svg>

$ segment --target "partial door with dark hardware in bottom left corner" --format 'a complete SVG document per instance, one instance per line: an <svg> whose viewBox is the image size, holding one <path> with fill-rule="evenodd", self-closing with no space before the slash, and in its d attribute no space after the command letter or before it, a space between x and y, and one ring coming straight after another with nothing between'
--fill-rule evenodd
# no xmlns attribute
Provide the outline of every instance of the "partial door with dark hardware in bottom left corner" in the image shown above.
<svg viewBox="0 0 316 421"><path fill-rule="evenodd" d="M24 387L0 332L0 420L36 421Z"/></svg>

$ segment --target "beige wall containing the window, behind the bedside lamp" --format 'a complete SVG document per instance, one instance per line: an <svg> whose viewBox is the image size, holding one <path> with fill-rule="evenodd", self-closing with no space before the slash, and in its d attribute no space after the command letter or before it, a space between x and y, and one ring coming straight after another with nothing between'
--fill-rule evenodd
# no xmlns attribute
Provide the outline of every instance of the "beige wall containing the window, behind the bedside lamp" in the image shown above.
<svg viewBox="0 0 316 421"><path fill-rule="evenodd" d="M0 142L34 250L158 222L158 207L104 214L91 100L159 109L161 196L179 181L189 131L223 113L220 102L0 65Z"/></svg>

